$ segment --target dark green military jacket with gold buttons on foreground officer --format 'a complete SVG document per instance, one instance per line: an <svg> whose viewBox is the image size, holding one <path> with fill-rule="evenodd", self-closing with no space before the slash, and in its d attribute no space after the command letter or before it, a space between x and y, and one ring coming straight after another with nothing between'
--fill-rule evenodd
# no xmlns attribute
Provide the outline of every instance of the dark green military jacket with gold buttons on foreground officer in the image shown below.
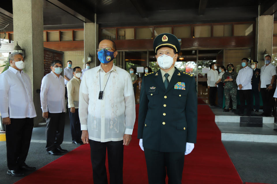
<svg viewBox="0 0 277 184"><path fill-rule="evenodd" d="M167 89L161 71L143 77L138 139L143 147L162 152L186 151L196 143L197 93L193 75L175 68Z"/></svg>

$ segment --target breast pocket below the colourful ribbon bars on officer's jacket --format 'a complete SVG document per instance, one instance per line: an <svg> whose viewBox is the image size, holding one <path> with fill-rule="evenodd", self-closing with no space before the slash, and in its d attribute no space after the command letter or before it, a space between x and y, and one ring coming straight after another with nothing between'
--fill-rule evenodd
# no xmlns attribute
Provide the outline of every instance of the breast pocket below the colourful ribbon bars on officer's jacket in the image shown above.
<svg viewBox="0 0 277 184"><path fill-rule="evenodd" d="M172 91L172 107L185 108L187 95L187 90L174 89Z"/></svg>

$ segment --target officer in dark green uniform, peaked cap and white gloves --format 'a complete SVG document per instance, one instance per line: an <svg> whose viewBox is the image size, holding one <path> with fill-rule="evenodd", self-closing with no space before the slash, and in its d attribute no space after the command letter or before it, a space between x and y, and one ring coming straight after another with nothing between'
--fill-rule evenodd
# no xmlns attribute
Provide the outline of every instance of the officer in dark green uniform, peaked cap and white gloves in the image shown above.
<svg viewBox="0 0 277 184"><path fill-rule="evenodd" d="M159 71L143 77L138 139L144 150L149 184L181 184L184 154L196 143L197 94L193 75L174 67L180 51L169 33L153 43Z"/></svg>

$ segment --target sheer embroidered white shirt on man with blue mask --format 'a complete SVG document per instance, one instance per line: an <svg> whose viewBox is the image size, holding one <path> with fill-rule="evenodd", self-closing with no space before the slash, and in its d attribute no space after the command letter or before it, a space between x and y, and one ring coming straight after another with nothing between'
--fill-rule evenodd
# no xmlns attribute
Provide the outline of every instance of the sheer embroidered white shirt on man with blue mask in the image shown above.
<svg viewBox="0 0 277 184"><path fill-rule="evenodd" d="M98 99L100 79L102 100ZM79 117L81 130L87 130L94 141L121 141L124 134L132 134L136 112L130 74L115 65L107 73L101 65L86 71L80 87Z"/></svg>

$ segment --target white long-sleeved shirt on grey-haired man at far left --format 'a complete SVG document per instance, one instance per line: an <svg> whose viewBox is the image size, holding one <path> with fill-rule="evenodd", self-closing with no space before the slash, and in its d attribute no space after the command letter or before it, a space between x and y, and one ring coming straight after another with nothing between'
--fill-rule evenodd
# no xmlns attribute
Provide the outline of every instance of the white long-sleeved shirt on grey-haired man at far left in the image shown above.
<svg viewBox="0 0 277 184"><path fill-rule="evenodd" d="M36 117L30 77L12 67L0 74L0 112L10 118Z"/></svg>

